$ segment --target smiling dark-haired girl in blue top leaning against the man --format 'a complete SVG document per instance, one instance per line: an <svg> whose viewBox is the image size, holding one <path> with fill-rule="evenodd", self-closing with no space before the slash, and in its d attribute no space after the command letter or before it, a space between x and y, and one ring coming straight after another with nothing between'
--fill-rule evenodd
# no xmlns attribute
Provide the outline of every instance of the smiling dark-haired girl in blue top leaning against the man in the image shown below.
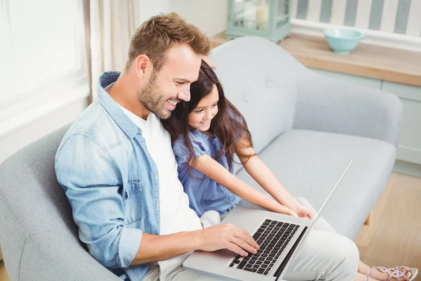
<svg viewBox="0 0 421 281"><path fill-rule="evenodd" d="M253 150L246 120L225 98L213 70L202 61L199 79L190 87L191 100L175 107L162 120L173 141L178 177L189 196L190 207L202 216L215 210L225 216L238 204L282 214L312 218L312 210L283 188ZM234 176L234 155L272 197L263 195ZM304 204L308 202L302 201ZM325 228L335 231L324 222ZM413 280L415 268L376 268L360 261L356 280Z"/></svg>

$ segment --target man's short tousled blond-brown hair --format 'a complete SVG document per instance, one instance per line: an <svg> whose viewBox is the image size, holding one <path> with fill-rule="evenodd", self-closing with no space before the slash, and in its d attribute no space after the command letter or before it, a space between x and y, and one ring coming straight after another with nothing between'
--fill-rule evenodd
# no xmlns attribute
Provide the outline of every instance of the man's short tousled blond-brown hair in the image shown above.
<svg viewBox="0 0 421 281"><path fill-rule="evenodd" d="M125 70L130 69L135 58L145 54L151 60L154 70L159 71L169 49L176 44L186 44L199 55L208 55L211 48L206 34L187 23L180 15L154 15L143 22L132 35Z"/></svg>

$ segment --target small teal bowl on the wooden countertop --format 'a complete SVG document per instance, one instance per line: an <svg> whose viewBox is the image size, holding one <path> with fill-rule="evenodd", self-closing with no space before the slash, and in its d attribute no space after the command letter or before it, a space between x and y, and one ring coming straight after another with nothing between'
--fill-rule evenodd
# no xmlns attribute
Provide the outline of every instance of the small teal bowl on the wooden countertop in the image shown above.
<svg viewBox="0 0 421 281"><path fill-rule="evenodd" d="M323 33L335 53L349 53L361 39L366 38L361 32L344 28L328 28Z"/></svg>

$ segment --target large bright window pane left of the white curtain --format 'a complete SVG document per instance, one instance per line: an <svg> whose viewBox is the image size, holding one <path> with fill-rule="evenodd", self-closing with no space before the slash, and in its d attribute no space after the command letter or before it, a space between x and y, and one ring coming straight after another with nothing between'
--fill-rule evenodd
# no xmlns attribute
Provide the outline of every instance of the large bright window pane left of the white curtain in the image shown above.
<svg viewBox="0 0 421 281"><path fill-rule="evenodd" d="M76 67L76 1L8 1L15 92Z"/></svg>

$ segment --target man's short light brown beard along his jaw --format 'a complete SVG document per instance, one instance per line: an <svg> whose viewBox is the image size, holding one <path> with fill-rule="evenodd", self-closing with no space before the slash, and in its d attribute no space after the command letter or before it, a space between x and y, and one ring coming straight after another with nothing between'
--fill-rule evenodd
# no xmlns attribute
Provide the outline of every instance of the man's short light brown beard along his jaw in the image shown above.
<svg viewBox="0 0 421 281"><path fill-rule="evenodd" d="M156 86L156 74L152 74L149 83L138 90L138 100L160 119L168 119L171 116L172 111L166 108L166 99L159 93Z"/></svg>

